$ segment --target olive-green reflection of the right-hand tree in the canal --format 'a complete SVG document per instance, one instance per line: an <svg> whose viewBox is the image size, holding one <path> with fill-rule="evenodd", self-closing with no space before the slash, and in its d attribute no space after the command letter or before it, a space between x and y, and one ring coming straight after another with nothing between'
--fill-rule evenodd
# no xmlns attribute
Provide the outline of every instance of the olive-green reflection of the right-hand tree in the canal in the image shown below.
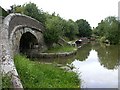
<svg viewBox="0 0 120 90"><path fill-rule="evenodd" d="M101 46L96 49L101 65L107 69L115 69L120 64L119 46Z"/></svg>

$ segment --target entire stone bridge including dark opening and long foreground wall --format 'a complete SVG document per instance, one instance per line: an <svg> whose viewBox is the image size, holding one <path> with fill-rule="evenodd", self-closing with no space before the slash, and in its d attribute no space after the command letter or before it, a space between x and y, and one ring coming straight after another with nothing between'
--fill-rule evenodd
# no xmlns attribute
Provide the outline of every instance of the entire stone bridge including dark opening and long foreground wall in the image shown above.
<svg viewBox="0 0 120 90"><path fill-rule="evenodd" d="M2 72L11 75L13 85L21 88L13 56L26 50L44 51L43 25L37 20L21 15L10 14L0 22L0 59Z"/></svg>

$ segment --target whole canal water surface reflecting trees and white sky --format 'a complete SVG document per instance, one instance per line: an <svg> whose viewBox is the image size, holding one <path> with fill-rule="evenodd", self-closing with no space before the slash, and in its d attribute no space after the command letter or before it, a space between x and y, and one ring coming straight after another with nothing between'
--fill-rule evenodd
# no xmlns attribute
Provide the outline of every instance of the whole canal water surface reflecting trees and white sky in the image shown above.
<svg viewBox="0 0 120 90"><path fill-rule="evenodd" d="M45 60L44 60L45 61ZM72 64L82 80L82 88L118 88L120 49L118 45L89 43L81 47L75 56L47 59L47 62Z"/></svg>

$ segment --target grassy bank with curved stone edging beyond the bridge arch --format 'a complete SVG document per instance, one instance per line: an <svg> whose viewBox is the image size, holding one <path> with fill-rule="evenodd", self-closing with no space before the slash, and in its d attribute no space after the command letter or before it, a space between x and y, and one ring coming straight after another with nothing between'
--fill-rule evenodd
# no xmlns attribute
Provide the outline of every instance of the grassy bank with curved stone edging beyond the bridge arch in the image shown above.
<svg viewBox="0 0 120 90"><path fill-rule="evenodd" d="M64 44L62 46L56 45L55 47L52 47L45 52L30 50L28 51L27 56L29 58L40 58L40 59L66 58L76 55L77 51L87 43L88 41L84 41L81 44L77 44L74 42L74 45L72 43Z"/></svg>

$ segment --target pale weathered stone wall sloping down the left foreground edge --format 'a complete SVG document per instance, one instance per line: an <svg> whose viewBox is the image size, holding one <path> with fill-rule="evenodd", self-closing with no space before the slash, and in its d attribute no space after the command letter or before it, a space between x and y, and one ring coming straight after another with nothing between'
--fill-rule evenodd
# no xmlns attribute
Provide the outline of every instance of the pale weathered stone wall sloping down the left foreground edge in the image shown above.
<svg viewBox="0 0 120 90"><path fill-rule="evenodd" d="M8 27L5 24L0 28L0 61L2 74L8 74L11 77L15 88L22 88L22 84L18 77L17 70L13 61L13 54L8 40Z"/></svg>

